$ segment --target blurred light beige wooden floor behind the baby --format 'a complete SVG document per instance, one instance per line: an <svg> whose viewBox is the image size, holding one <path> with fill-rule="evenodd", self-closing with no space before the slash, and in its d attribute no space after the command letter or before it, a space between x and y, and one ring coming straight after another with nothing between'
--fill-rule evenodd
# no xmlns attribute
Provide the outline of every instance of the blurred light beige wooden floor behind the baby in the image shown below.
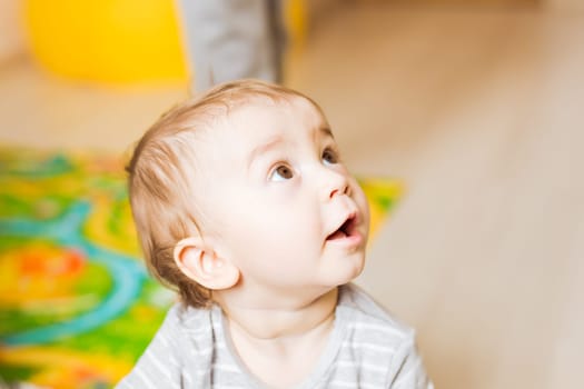
<svg viewBox="0 0 584 389"><path fill-rule="evenodd" d="M407 186L359 282L419 335L437 388L582 388L584 14L331 11L288 84L358 174ZM0 70L0 142L122 151L182 87Z"/></svg>

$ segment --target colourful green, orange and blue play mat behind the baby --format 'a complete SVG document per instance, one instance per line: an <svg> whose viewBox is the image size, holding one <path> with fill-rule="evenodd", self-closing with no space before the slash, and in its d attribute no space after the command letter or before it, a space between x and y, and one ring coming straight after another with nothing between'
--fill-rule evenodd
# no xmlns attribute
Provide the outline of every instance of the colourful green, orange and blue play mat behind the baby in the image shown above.
<svg viewBox="0 0 584 389"><path fill-rule="evenodd" d="M375 232L402 187L360 182ZM140 260L121 158L0 147L0 387L110 388L174 300Z"/></svg>

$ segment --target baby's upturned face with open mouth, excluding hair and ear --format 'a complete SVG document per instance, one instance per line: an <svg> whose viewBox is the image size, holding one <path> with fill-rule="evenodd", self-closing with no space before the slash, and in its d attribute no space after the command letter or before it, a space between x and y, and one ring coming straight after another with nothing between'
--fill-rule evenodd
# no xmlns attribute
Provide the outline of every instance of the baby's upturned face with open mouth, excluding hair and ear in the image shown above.
<svg viewBox="0 0 584 389"><path fill-rule="evenodd" d="M360 273L367 201L311 103L237 109L201 144L209 168L197 198L244 285L330 288Z"/></svg>

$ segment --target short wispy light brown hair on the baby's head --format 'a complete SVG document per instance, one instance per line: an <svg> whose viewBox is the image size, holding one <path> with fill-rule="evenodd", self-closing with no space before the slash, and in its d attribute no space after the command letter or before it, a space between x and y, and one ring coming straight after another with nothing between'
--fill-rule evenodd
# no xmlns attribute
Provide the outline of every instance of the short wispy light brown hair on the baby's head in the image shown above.
<svg viewBox="0 0 584 389"><path fill-rule="evenodd" d="M130 206L146 263L162 285L178 290L187 306L201 308L211 302L210 291L185 276L174 260L175 245L179 240L202 233L191 196L196 133L212 128L232 109L294 98L306 99L321 111L310 98L281 86L257 80L227 82L170 109L136 146L126 170Z"/></svg>

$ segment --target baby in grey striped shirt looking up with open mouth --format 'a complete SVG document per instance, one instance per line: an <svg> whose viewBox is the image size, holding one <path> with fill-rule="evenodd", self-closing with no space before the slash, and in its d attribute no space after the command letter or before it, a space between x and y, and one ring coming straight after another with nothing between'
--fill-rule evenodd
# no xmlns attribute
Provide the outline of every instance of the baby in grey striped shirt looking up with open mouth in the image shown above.
<svg viewBox="0 0 584 389"><path fill-rule="evenodd" d="M433 388L414 331L350 283L367 201L310 98L218 86L128 171L147 263L181 301L119 388Z"/></svg>

